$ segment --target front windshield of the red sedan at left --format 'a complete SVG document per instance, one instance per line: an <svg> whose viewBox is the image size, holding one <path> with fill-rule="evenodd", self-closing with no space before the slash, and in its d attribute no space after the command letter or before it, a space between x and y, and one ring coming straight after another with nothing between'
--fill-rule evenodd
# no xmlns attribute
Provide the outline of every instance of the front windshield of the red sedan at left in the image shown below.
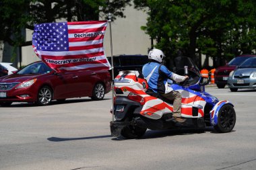
<svg viewBox="0 0 256 170"><path fill-rule="evenodd" d="M45 74L50 73L52 69L44 64L44 62L35 62L31 65L24 67L17 74L26 75L26 74Z"/></svg>

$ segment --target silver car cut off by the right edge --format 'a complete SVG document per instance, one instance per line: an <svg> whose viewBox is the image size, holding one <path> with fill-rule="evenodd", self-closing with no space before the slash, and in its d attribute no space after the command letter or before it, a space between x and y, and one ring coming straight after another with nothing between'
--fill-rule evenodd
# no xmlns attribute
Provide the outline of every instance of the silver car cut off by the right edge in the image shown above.
<svg viewBox="0 0 256 170"><path fill-rule="evenodd" d="M228 77L230 91L256 88L256 57L245 60Z"/></svg>

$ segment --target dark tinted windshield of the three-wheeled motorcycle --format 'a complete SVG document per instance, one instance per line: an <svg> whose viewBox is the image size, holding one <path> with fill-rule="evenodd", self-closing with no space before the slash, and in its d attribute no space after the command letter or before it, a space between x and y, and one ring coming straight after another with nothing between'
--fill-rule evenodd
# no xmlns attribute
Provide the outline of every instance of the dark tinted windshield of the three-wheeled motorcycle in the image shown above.
<svg viewBox="0 0 256 170"><path fill-rule="evenodd" d="M200 75L200 71L197 65L195 65L195 62L193 62L193 60L187 56L178 56L174 58L174 65L176 67L176 71L184 69L184 67L187 66L190 71Z"/></svg>

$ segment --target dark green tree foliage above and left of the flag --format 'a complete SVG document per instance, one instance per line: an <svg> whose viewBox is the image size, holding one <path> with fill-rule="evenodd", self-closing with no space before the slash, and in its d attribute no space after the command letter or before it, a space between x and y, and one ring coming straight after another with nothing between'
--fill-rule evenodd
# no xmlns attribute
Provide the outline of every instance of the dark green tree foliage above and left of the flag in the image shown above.
<svg viewBox="0 0 256 170"><path fill-rule="evenodd" d="M0 41L12 46L31 45L25 41L22 30L34 30L34 24L98 20L107 13L125 17L123 11L131 0L1 0L0 1Z"/></svg>

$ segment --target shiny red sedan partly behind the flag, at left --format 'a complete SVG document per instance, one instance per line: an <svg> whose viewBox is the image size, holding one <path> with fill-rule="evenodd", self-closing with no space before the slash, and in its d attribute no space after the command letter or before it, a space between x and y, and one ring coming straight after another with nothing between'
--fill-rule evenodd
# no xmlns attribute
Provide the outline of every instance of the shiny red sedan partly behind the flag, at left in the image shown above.
<svg viewBox="0 0 256 170"><path fill-rule="evenodd" d="M11 105L13 101L48 105L54 99L85 96L100 100L110 87L107 70L57 73L39 61L0 78L0 105Z"/></svg>

